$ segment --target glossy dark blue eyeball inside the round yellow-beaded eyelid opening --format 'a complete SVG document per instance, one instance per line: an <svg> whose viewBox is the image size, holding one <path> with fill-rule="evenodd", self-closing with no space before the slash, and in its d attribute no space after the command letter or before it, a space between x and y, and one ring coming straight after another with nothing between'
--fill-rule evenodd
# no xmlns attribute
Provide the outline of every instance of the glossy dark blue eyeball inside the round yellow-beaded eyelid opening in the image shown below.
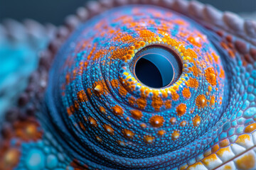
<svg viewBox="0 0 256 170"><path fill-rule="evenodd" d="M171 85L181 76L182 62L174 50L163 45L150 45L136 53L134 74L142 84L152 88Z"/></svg>

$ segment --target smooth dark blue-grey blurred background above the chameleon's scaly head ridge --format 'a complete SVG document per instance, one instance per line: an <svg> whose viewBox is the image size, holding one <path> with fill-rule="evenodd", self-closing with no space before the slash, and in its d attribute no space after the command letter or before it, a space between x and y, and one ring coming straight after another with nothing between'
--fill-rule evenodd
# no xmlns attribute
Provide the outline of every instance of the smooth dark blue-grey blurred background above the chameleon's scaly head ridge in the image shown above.
<svg viewBox="0 0 256 170"><path fill-rule="evenodd" d="M253 13L256 11L256 0L199 0L204 4L212 4L221 11L235 13ZM3 18L14 18L22 21L33 18L40 23L60 25L63 18L75 9L84 5L86 0L0 0L0 21ZM256 19L256 13L254 13Z"/></svg>

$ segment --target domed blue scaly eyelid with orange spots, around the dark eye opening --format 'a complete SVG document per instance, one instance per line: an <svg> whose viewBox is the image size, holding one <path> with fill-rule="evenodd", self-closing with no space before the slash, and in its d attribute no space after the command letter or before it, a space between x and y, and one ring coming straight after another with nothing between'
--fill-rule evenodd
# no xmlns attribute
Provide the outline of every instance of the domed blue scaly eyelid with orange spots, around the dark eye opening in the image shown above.
<svg viewBox="0 0 256 170"><path fill-rule="evenodd" d="M181 61L175 66L181 75L159 89L134 73L137 53L152 45ZM201 26L164 8L128 6L102 13L70 36L55 57L46 103L80 162L168 166L219 120L226 83L220 54Z"/></svg>

